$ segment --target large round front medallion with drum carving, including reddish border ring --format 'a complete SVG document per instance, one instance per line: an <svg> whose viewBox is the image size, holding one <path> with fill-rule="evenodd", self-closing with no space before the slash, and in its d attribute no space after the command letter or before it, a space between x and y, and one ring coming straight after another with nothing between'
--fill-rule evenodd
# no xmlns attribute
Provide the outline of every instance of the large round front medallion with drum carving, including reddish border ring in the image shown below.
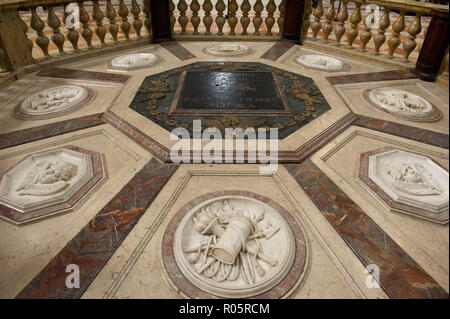
<svg viewBox="0 0 450 319"><path fill-rule="evenodd" d="M294 218L261 195L200 196L171 220L163 240L169 280L190 298L281 298L296 287L306 260Z"/></svg>

